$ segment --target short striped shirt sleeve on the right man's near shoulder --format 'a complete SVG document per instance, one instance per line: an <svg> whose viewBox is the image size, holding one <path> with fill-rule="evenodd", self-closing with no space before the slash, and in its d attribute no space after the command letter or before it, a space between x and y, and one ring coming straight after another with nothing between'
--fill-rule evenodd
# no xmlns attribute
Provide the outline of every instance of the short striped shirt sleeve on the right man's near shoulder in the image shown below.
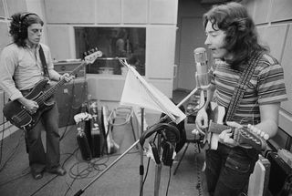
<svg viewBox="0 0 292 196"><path fill-rule="evenodd" d="M287 100L283 67L276 63L263 68L259 73L257 88L259 104Z"/></svg>

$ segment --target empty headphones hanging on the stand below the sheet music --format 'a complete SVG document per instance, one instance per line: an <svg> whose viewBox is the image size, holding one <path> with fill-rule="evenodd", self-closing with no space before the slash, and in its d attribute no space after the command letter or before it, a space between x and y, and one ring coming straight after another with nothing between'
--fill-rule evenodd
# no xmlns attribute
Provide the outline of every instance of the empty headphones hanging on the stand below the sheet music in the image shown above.
<svg viewBox="0 0 292 196"><path fill-rule="evenodd" d="M180 141L180 131L175 126L168 123L158 123L151 126L150 129L145 130L141 135L140 144L143 150L145 139L148 139L153 133L162 135L162 162L166 166L172 166L175 145ZM160 164L159 150L154 140L151 140L149 144L156 164Z"/></svg>

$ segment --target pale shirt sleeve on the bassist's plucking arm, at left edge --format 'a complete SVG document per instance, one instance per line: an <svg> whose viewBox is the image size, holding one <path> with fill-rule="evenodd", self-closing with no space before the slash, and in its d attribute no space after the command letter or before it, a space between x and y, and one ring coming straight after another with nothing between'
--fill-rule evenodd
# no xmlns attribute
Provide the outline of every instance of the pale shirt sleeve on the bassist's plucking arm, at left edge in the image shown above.
<svg viewBox="0 0 292 196"><path fill-rule="evenodd" d="M0 57L0 86L11 100L23 97L21 92L16 88L16 83L13 79L16 66L16 52L12 49L4 48Z"/></svg>

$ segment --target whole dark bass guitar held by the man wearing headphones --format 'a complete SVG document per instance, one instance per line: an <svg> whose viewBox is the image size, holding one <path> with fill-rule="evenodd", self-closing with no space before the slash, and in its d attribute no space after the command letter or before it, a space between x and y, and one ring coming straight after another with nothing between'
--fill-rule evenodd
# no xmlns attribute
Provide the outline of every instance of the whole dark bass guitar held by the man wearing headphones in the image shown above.
<svg viewBox="0 0 292 196"><path fill-rule="evenodd" d="M101 51L91 53L89 56L84 57L83 62L76 67L70 76L74 76L84 66L93 63L98 57L102 56ZM53 108L55 102L50 100L53 94L57 91L57 88L66 83L65 78L57 82L53 87L49 87L48 79L42 79L36 83L36 86L32 91L26 95L25 98L36 101L38 108L36 113L31 114L26 108L17 100L9 101L3 108L3 114L5 118L10 121L19 129L30 130L36 126L41 114L49 108Z"/></svg>

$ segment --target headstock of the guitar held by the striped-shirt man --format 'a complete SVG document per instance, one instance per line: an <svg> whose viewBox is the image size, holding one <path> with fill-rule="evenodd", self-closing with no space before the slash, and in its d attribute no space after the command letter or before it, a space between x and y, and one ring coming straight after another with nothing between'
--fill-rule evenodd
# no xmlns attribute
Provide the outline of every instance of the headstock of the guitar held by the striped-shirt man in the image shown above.
<svg viewBox="0 0 292 196"><path fill-rule="evenodd" d="M241 129L235 129L234 139L240 146L252 146L255 150L265 150L266 140L269 136L255 126L248 125Z"/></svg>

